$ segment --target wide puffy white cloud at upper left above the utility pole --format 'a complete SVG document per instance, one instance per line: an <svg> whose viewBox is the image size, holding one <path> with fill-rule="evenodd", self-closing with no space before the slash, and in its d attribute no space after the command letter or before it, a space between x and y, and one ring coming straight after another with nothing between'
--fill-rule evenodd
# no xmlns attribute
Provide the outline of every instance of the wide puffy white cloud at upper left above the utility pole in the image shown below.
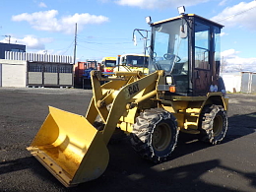
<svg viewBox="0 0 256 192"><path fill-rule="evenodd" d="M82 30L85 25L102 24L108 21L107 17L84 14L74 14L73 16L65 16L57 18L57 10L49 10L44 12L34 12L32 14L23 13L12 17L15 22L26 21L32 28L38 31L46 32L65 32L73 33L75 23L78 24L78 29Z"/></svg>

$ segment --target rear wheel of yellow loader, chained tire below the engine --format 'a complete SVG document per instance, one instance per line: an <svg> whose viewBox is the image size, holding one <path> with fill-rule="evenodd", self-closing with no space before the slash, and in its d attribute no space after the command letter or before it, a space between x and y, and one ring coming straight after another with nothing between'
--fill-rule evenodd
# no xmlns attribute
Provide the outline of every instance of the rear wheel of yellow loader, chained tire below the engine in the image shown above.
<svg viewBox="0 0 256 192"><path fill-rule="evenodd" d="M227 131L227 116L221 105L206 105L199 121L200 140L212 145L219 144Z"/></svg>

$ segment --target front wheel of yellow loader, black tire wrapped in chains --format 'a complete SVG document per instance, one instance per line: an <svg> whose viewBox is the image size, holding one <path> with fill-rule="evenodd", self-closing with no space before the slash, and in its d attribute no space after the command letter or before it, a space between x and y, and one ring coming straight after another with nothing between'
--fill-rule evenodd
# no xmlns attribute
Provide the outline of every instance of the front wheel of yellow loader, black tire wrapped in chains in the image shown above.
<svg viewBox="0 0 256 192"><path fill-rule="evenodd" d="M167 160L177 144L176 118L161 108L147 109L136 118L131 144L144 159Z"/></svg>

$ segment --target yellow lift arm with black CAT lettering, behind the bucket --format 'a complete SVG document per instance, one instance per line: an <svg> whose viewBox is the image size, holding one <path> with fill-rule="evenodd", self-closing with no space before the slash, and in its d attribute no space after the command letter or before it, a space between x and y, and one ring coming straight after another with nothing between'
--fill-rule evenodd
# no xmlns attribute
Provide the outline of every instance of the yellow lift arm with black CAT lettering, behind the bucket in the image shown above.
<svg viewBox="0 0 256 192"><path fill-rule="evenodd" d="M99 84L100 74L100 71L92 72L94 96L86 118L94 124L97 114L101 117L104 122L103 140L107 145L123 113L139 102L157 95L156 86L160 72L149 76L143 76L141 72L115 72L115 76L121 78L115 78L102 86ZM140 98L136 98L137 95ZM106 107L108 104L111 104L109 110Z"/></svg>

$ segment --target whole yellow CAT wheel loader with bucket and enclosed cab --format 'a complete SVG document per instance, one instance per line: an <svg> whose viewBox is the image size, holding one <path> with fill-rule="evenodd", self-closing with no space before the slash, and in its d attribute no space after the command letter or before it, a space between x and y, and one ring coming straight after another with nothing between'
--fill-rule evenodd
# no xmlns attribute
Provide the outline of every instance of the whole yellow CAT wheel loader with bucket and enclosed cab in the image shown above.
<svg viewBox="0 0 256 192"><path fill-rule="evenodd" d="M116 129L130 136L140 156L154 162L168 160L179 131L198 134L212 145L224 139L223 26L194 14L150 25L149 75L92 71L94 96L85 116L49 107L28 150L66 187L104 172L107 144Z"/></svg>

